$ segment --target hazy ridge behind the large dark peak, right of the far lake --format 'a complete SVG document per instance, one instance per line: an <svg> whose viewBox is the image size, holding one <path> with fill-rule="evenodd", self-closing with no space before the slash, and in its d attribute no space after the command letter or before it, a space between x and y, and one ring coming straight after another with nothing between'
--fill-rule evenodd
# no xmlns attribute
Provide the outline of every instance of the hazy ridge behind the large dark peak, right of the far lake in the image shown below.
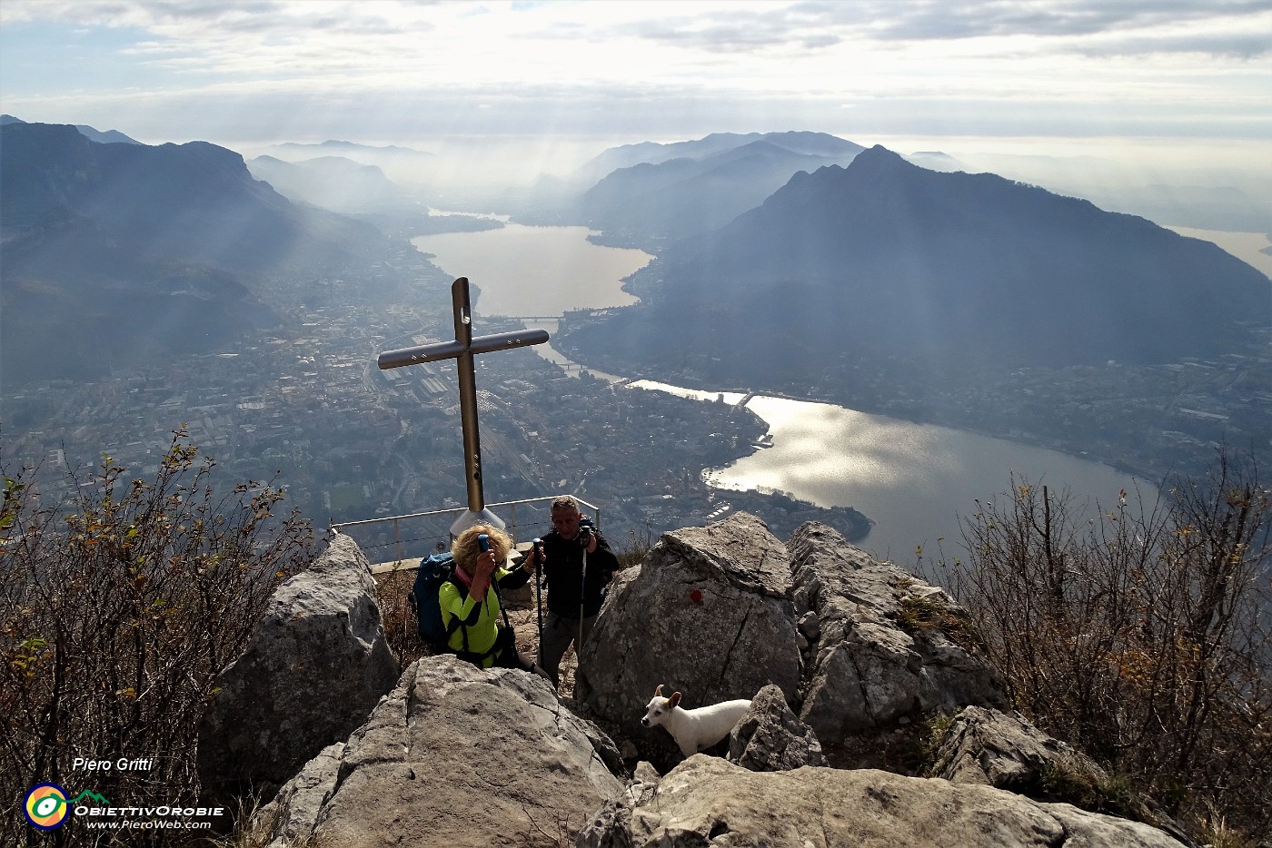
<svg viewBox="0 0 1272 848"><path fill-rule="evenodd" d="M607 231L684 238L758 206L796 172L846 164L864 150L815 132L715 135L655 147L639 150L653 158L673 149L684 155L609 173L579 198L579 219Z"/></svg>

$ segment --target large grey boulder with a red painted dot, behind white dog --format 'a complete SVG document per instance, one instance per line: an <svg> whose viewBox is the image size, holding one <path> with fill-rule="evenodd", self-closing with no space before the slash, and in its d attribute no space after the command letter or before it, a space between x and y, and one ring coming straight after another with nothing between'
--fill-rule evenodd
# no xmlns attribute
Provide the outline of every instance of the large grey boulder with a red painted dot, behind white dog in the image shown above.
<svg viewBox="0 0 1272 848"><path fill-rule="evenodd" d="M800 652L786 548L745 512L664 534L619 572L579 661L575 698L630 736L654 689L682 706L750 699L777 685L794 697Z"/></svg>

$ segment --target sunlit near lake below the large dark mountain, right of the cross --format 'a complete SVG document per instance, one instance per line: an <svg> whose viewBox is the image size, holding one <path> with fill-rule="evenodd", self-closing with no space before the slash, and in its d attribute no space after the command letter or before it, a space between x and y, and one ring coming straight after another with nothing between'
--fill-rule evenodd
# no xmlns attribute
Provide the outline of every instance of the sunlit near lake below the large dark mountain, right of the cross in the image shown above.
<svg viewBox="0 0 1272 848"><path fill-rule="evenodd" d="M720 397L644 380L632 385L701 400ZM724 394L725 403L742 398ZM972 515L978 498L1010 491L1013 474L1056 492L1067 487L1077 502L1114 503L1119 491L1135 492L1135 478L1108 465L1004 439L812 400L757 395L747 408L768 423L773 446L710 469L707 481L851 506L875 523L861 547L902 563L913 562L918 547L931 558L940 539L946 553L954 551L958 517ZM1151 497L1152 487L1141 483L1141 492Z"/></svg>

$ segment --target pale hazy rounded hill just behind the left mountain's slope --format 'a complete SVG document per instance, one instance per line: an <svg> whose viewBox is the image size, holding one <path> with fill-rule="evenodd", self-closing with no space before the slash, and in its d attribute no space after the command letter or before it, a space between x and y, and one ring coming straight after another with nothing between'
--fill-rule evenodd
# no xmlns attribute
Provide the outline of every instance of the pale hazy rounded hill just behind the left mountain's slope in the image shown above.
<svg viewBox="0 0 1272 848"><path fill-rule="evenodd" d="M293 201L336 212L373 212L402 207L401 189L377 165L364 165L343 156L319 156L282 161L257 156L247 163L257 179L270 183Z"/></svg>

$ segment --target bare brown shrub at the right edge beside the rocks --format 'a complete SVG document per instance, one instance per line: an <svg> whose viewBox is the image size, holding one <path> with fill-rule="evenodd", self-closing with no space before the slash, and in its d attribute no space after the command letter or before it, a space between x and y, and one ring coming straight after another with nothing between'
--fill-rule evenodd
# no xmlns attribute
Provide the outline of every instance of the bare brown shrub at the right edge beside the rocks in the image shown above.
<svg viewBox="0 0 1272 848"><path fill-rule="evenodd" d="M1272 825L1272 497L1221 451L1207 481L1080 515L1013 479L939 577L1018 708L1198 831Z"/></svg>

